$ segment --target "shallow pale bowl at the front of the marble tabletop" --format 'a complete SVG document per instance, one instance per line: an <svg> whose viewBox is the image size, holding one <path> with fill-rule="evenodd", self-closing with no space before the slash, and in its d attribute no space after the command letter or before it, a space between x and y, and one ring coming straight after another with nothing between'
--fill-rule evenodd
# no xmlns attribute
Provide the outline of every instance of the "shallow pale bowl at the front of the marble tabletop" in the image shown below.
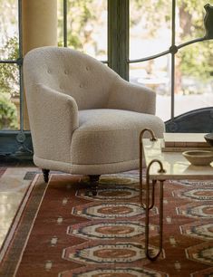
<svg viewBox="0 0 213 277"><path fill-rule="evenodd" d="M190 150L183 152L182 155L193 166L208 166L213 161L213 151Z"/></svg>

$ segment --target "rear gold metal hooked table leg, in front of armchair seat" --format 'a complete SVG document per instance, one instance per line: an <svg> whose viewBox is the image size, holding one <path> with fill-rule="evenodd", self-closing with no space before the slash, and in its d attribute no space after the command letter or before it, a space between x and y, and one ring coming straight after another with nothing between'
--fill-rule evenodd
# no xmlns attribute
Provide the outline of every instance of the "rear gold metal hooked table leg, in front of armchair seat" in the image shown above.
<svg viewBox="0 0 213 277"><path fill-rule="evenodd" d="M141 130L140 132L140 203L141 203L141 206L145 209L146 208L146 205L143 203L143 199L142 199L142 156L143 156L143 143L142 143L142 139L143 139L143 135L144 133L148 131L151 135L151 139L150 141L156 141L158 140L156 137L155 137L155 134L153 132L152 129L149 129L149 128L146 128L146 129L143 129ZM152 204L150 205L150 209L153 207L153 200L154 200L154 183L152 183Z"/></svg>

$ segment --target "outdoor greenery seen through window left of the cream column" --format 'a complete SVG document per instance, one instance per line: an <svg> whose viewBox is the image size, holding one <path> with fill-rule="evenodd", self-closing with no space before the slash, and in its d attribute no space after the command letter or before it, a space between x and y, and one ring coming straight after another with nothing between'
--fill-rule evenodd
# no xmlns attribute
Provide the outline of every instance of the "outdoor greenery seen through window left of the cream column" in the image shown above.
<svg viewBox="0 0 213 277"><path fill-rule="evenodd" d="M0 0L0 60L18 58L18 1ZM0 63L0 129L19 129L19 72L15 63Z"/></svg>

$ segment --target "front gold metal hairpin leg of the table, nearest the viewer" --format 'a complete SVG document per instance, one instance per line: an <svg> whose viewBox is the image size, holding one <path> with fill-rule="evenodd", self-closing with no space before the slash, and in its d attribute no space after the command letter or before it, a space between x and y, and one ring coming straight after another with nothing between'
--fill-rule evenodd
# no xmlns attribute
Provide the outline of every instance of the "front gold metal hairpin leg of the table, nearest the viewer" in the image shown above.
<svg viewBox="0 0 213 277"><path fill-rule="evenodd" d="M150 255L149 241L150 241L150 208L154 205L154 186L157 183L157 180L152 180L152 199L150 205L150 167L153 163L159 163L160 170L159 173L165 173L166 170L163 169L163 165L159 159L153 159L150 161L149 166L147 167L146 173L146 219L145 219L145 253L148 259L151 261L156 260L161 251L162 251L162 232L163 232L163 183L164 180L160 180L160 211L159 211L159 225L160 225L160 238L159 238L159 251L156 255Z"/></svg>

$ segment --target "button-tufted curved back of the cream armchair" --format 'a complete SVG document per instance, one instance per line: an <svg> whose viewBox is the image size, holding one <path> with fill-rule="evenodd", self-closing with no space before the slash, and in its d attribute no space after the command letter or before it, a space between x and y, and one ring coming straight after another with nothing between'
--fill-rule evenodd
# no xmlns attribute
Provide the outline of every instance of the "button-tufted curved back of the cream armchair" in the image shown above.
<svg viewBox="0 0 213 277"><path fill-rule="evenodd" d="M106 108L111 85L119 78L109 67L69 48L46 46L30 53L24 57L28 91L34 93L42 83L73 96L79 110Z"/></svg>

